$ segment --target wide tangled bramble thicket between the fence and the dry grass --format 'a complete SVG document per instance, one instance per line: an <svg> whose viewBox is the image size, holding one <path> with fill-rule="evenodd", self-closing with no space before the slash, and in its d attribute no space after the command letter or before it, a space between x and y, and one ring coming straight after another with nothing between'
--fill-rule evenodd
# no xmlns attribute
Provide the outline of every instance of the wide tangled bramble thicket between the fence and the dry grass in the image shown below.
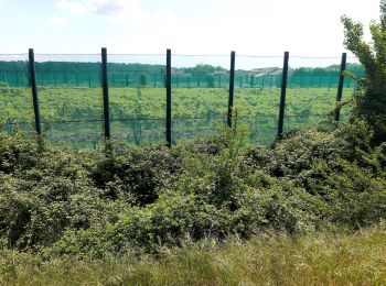
<svg viewBox="0 0 386 286"><path fill-rule="evenodd" d="M1 134L2 248L101 257L386 217L386 144L373 147L364 122L292 131L269 147L240 131L173 150L112 144L107 156Z"/></svg>

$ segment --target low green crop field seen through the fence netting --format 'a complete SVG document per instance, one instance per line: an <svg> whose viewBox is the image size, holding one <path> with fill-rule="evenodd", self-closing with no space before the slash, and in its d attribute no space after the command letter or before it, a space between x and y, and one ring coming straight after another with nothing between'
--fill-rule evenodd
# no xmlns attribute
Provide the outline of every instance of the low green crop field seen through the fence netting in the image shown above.
<svg viewBox="0 0 386 286"><path fill-rule="evenodd" d="M353 89L345 88L343 101ZM332 120L336 88L287 89L285 131ZM235 117L248 129L250 142L270 143L277 133L280 89L236 88ZM97 146L103 142L100 88L40 88L39 103L44 139L51 144ZM164 88L110 88L111 138L133 144L164 141ZM227 88L173 88L173 143L203 140L226 122ZM29 88L0 90L0 127L3 132L33 132L32 95ZM342 110L345 120L347 109Z"/></svg>

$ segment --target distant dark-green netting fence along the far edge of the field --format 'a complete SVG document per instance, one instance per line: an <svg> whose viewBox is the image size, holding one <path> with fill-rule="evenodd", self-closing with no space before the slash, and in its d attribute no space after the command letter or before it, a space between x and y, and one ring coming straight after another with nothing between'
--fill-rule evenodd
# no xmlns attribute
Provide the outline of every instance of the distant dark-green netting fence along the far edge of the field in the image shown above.
<svg viewBox="0 0 386 286"><path fill-rule="evenodd" d="M1 63L0 63L1 65ZM36 65L36 69L39 65ZM275 74L280 70L268 70L270 74L262 74L259 76L248 74L237 74L235 76L235 87L238 88L257 88L257 87L281 87L281 74ZM298 72L288 78L290 86L297 86L302 88L334 88L337 87L337 69L318 72L310 74L307 70ZM356 75L363 75L362 69L354 70ZM138 78L138 74L142 76ZM30 75L28 70L19 69L1 69L0 67L0 82L7 82L9 87L26 88L30 86ZM137 87L138 82L142 82L146 87L161 88L165 86L164 75L158 73L151 73L143 69L127 69L127 70L110 70L108 75L109 87ZM98 75L90 70L72 70L66 67L61 67L58 70L46 70L43 68L36 75L36 84L41 87L52 88L67 88L67 87L83 87L95 88L100 85L100 78ZM214 75L191 75L191 74L176 74L172 78L172 87L174 88L225 88L229 85L229 78L227 74L214 74ZM347 78L344 82L344 87L351 88L356 85L354 79Z"/></svg>

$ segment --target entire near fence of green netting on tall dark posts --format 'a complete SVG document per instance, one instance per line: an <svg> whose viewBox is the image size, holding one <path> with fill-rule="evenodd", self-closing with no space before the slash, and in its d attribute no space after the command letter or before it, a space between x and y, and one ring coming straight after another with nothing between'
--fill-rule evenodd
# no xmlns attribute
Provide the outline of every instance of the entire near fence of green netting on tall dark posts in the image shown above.
<svg viewBox="0 0 386 286"><path fill-rule="evenodd" d="M237 110L250 141L265 144L296 127L345 120L336 100L356 82L343 80L345 66L363 75L345 56L0 55L0 128L52 144L171 146L212 136Z"/></svg>

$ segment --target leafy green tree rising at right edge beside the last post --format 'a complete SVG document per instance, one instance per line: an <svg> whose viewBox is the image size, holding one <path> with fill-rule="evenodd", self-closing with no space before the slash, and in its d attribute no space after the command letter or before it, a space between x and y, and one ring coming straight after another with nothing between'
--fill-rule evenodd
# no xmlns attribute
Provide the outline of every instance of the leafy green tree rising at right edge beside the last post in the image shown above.
<svg viewBox="0 0 386 286"><path fill-rule="evenodd" d="M372 21L372 43L363 38L363 24L343 15L344 45L365 68L354 94L353 116L374 130L374 143L386 141L386 0L380 0L380 21Z"/></svg>

